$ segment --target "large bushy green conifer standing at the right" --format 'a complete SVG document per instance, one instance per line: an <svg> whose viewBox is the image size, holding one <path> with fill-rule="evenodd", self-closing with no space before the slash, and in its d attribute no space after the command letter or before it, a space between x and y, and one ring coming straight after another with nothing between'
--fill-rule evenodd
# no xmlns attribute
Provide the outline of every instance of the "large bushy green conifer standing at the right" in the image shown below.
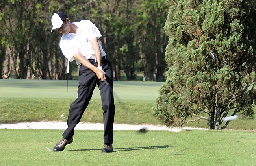
<svg viewBox="0 0 256 166"><path fill-rule="evenodd" d="M229 115L253 118L255 1L169 0L169 7L169 70L154 116L167 126L206 119L209 129L226 128Z"/></svg>

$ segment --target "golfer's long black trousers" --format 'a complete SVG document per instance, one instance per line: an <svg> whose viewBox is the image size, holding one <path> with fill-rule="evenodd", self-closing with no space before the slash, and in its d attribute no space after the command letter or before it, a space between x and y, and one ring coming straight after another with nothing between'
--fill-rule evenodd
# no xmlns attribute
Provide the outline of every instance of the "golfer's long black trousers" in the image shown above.
<svg viewBox="0 0 256 166"><path fill-rule="evenodd" d="M96 62L91 61L93 65L97 66ZM111 63L108 59L102 60L102 68L106 72L106 84L98 79L96 74L85 66L81 66L79 70L79 85L78 97L70 105L69 117L67 120L68 128L63 133L63 138L70 140L74 135L74 128L80 122L82 115L87 108L89 101L93 95L93 90L98 85L100 90L102 109L103 109L103 122L104 122L104 143L113 143L113 124L115 116L115 105L113 96L113 70Z"/></svg>

